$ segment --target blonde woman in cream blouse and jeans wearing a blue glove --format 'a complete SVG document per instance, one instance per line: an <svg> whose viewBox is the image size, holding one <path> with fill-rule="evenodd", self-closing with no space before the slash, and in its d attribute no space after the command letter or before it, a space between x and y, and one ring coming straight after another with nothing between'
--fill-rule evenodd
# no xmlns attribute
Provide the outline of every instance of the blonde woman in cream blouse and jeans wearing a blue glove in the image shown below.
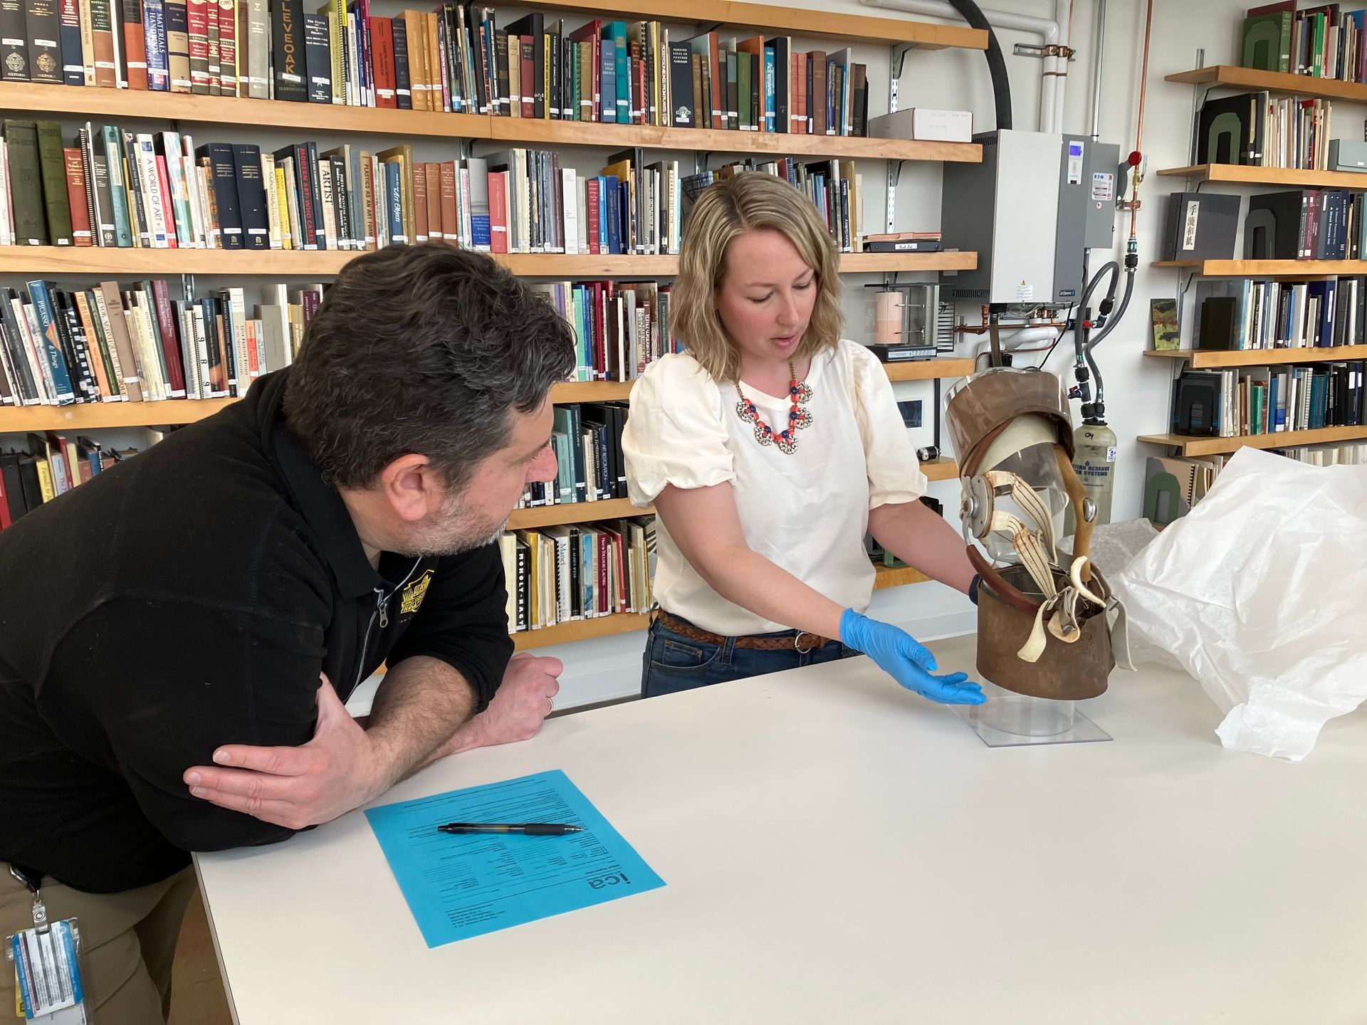
<svg viewBox="0 0 1367 1025"><path fill-rule="evenodd" d="M673 325L685 353L632 390L622 435L633 503L655 503L660 612L641 694L864 652L902 686L979 704L962 672L861 615L864 534L968 593L973 570L925 491L874 355L842 340L838 256L812 204L766 174L699 198Z"/></svg>

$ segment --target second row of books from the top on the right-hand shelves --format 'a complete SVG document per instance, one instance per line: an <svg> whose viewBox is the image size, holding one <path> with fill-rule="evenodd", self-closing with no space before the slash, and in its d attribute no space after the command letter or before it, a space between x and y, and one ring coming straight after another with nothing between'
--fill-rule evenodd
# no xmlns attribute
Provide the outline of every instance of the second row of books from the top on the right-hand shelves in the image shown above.
<svg viewBox="0 0 1367 1025"><path fill-rule="evenodd" d="M1196 118L1197 164L1329 167L1333 104L1322 98L1239 93L1206 100Z"/></svg>

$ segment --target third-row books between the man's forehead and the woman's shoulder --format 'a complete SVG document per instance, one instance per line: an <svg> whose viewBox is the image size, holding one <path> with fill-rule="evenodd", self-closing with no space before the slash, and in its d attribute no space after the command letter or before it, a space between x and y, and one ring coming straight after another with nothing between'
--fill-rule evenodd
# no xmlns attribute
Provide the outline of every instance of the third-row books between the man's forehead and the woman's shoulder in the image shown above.
<svg viewBox="0 0 1367 1025"><path fill-rule="evenodd" d="M577 381L632 381L682 343L670 332L673 287L656 282L541 282L545 295L574 328Z"/></svg>

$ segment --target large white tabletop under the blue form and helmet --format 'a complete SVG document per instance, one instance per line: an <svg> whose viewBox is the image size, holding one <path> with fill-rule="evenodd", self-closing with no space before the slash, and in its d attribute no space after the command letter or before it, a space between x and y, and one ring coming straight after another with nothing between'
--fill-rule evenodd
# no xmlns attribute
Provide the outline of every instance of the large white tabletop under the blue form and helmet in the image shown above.
<svg viewBox="0 0 1367 1025"><path fill-rule="evenodd" d="M560 768L666 887L428 950L354 812L197 858L223 979L242 1025L1367 1021L1367 715L1289 764L1176 672L1083 708L988 749L857 659L552 719L379 804Z"/></svg>

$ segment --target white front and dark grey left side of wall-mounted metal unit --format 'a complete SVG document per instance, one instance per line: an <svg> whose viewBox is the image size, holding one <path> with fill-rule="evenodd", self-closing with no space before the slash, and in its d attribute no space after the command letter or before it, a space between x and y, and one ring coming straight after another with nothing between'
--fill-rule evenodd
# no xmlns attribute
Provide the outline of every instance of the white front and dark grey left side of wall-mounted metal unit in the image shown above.
<svg viewBox="0 0 1367 1025"><path fill-rule="evenodd" d="M1061 137L1009 128L973 142L983 163L945 164L940 231L946 249L977 253L977 269L945 275L943 298L1054 302Z"/></svg>

